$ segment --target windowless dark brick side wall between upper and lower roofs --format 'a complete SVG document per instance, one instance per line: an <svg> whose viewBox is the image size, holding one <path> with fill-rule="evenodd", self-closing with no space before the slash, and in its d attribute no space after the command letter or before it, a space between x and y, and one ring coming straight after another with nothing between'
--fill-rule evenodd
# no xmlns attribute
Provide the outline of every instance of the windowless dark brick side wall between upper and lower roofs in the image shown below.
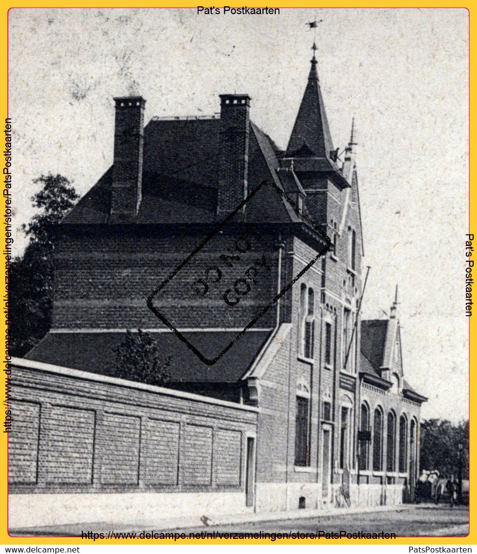
<svg viewBox="0 0 477 554"><path fill-rule="evenodd" d="M148 309L147 297L191 254L204 232L142 234L130 229L128 234L124 229L101 228L94 237L65 232L58 239L54 328L164 327ZM276 294L277 250L272 234L217 234L154 297L153 304L176 327L244 327ZM263 257L268 269L255 263L263 262ZM247 276L250 266L257 270L255 282ZM218 268L218 282L214 282L217 270L208 268ZM254 276L255 269L249 275ZM250 290L231 306L224 301L225 292L230 290L228 299L235 302L239 296L235 287L241 293L247 290L247 284L237 284L237 279L247 279ZM273 327L275 318L274 310L269 310L258 325Z"/></svg>

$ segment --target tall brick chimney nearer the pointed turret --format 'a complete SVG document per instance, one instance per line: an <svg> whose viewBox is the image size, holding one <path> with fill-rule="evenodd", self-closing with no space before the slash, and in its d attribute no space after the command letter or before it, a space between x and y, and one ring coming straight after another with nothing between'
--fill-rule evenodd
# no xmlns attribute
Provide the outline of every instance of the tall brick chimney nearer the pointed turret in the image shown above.
<svg viewBox="0 0 477 554"><path fill-rule="evenodd" d="M250 96L220 94L217 213L225 215L247 196Z"/></svg>

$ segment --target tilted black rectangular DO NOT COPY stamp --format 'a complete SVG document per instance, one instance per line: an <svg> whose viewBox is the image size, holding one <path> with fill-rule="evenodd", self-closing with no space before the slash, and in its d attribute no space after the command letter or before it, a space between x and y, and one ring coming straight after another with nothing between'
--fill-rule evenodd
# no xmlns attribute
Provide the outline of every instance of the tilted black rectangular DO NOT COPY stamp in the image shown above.
<svg viewBox="0 0 477 554"><path fill-rule="evenodd" d="M268 196L266 196L268 195ZM247 210L261 197L281 202L294 221L248 222ZM255 218L256 219L256 218ZM296 275L284 268L285 238L301 232L314 241ZM273 181L263 181L150 294L147 306L204 364L214 365L246 332L273 329L280 299L329 250L329 237ZM179 300L177 300L179 299ZM273 307L276 307L274 310ZM198 344L182 319L193 312L198 330L233 331L213 346ZM192 334L193 335L193 334Z"/></svg>

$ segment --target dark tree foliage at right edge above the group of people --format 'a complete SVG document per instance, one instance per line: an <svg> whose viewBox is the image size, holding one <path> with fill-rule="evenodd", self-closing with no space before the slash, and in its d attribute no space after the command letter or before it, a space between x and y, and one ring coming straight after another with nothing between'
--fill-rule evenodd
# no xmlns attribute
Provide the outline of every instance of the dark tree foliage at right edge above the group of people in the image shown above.
<svg viewBox="0 0 477 554"><path fill-rule="evenodd" d="M457 425L447 419L427 419L420 424L420 468L457 475L459 444L464 479L469 478L469 421Z"/></svg>

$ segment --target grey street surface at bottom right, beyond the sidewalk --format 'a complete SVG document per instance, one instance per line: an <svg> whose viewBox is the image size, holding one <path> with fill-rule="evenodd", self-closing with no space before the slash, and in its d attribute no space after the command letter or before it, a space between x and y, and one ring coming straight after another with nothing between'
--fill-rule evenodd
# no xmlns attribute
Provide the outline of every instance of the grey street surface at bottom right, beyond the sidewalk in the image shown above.
<svg viewBox="0 0 477 554"><path fill-rule="evenodd" d="M397 509L364 514L303 517L293 520L257 521L251 523L208 527L208 531L220 532L325 532L346 531L356 533L386 532L396 536L466 536L469 532L468 506L450 508L441 506L417 506L416 509ZM205 527L189 528L184 532L201 532ZM182 530L181 530L182 531Z"/></svg>

